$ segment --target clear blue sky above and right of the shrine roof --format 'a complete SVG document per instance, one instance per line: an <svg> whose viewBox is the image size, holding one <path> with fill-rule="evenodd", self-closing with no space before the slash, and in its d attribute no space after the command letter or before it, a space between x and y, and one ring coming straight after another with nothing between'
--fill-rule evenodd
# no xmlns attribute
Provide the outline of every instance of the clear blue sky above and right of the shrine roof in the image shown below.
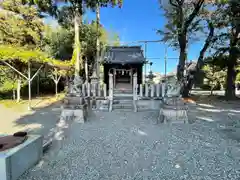
<svg viewBox="0 0 240 180"><path fill-rule="evenodd" d="M87 19L95 19L95 14L88 12ZM159 8L158 0L123 0L123 7L101 8L101 24L109 31L117 32L120 40L139 41L139 40L159 40L156 29L164 27L165 18ZM143 44L136 44L143 45ZM189 47L188 59L195 60L198 57L201 42ZM148 58L153 62L154 72L164 73L164 43L149 43L147 47ZM168 48L167 72L176 68L178 62L178 52Z"/></svg>

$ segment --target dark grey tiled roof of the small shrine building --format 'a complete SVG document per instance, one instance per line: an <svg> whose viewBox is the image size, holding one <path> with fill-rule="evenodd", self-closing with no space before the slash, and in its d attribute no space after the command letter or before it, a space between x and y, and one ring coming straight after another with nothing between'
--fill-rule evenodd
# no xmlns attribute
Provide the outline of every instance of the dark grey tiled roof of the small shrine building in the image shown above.
<svg viewBox="0 0 240 180"><path fill-rule="evenodd" d="M104 63L144 63L141 46L108 46L103 56Z"/></svg>

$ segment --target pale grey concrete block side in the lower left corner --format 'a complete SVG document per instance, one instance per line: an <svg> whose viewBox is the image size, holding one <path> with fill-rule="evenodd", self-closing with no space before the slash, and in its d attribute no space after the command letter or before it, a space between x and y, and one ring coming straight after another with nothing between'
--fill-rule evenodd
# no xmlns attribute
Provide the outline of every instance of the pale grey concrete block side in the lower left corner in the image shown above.
<svg viewBox="0 0 240 180"><path fill-rule="evenodd" d="M41 159L42 147L42 136L29 135L24 143L0 152L0 179L17 180Z"/></svg>

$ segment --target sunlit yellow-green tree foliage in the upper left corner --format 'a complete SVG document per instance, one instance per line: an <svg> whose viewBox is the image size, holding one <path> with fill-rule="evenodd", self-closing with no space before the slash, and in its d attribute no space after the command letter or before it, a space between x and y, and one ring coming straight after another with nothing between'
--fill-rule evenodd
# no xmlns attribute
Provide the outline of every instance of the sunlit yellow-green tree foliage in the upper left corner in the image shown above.
<svg viewBox="0 0 240 180"><path fill-rule="evenodd" d="M0 1L0 7L0 43L40 48L44 25L37 9L22 0Z"/></svg>

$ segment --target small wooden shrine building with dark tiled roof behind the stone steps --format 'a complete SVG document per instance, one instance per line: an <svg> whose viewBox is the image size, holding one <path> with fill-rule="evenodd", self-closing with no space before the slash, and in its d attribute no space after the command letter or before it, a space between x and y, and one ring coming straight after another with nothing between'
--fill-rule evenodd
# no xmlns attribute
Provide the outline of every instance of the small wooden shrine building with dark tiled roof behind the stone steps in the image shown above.
<svg viewBox="0 0 240 180"><path fill-rule="evenodd" d="M109 87L109 74L113 75L113 88L133 89L133 75L142 83L142 67L145 62L140 46L108 47L103 61L104 83Z"/></svg>

